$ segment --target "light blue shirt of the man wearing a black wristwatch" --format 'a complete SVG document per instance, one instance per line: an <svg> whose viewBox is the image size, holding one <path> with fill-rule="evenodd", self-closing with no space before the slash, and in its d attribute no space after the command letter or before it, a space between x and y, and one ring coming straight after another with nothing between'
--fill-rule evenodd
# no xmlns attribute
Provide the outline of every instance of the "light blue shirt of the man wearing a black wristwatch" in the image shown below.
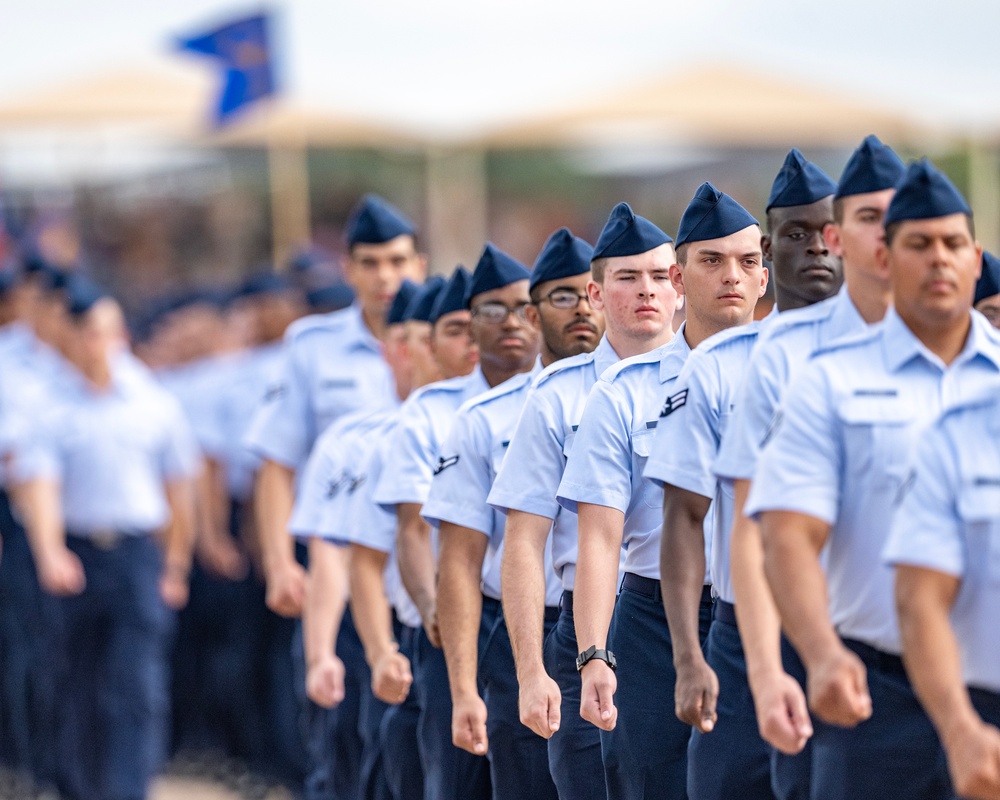
<svg viewBox="0 0 1000 800"><path fill-rule="evenodd" d="M610 367L587 398L559 484L563 508L578 503L625 515L625 571L660 579L663 492L643 478L660 411L691 353L685 326L667 344Z"/></svg>

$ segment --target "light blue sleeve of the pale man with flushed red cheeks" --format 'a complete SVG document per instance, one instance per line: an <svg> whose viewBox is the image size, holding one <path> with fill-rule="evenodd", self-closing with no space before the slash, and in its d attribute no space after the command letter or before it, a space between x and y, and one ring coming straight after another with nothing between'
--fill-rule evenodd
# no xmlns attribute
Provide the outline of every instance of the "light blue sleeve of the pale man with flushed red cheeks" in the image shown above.
<svg viewBox="0 0 1000 800"><path fill-rule="evenodd" d="M544 387L545 384L543 384ZM489 503L495 509L526 511L555 519L556 493L566 466L567 432L553 392L534 391L528 397Z"/></svg>

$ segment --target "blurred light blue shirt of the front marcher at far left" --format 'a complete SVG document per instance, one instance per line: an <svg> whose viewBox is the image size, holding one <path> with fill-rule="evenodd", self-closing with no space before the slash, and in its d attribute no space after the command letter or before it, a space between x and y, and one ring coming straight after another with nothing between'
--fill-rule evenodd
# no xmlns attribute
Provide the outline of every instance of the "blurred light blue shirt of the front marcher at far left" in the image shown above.
<svg viewBox="0 0 1000 800"><path fill-rule="evenodd" d="M79 535L162 528L170 515L164 483L197 469L180 405L128 369L115 369L104 391L67 373L16 460L19 479L58 481L66 529Z"/></svg>

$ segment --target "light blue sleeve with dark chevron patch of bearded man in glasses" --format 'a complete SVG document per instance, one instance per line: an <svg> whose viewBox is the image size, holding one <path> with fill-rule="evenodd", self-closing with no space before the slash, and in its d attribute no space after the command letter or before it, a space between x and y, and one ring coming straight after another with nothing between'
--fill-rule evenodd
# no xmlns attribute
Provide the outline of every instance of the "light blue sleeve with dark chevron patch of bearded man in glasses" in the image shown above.
<svg viewBox="0 0 1000 800"><path fill-rule="evenodd" d="M493 536L493 509L486 498L492 466L499 466L503 453L493 453L491 447L489 428L482 416L475 413L474 407L460 411L445 440L421 511L428 523L440 527L442 522L450 522Z"/></svg>

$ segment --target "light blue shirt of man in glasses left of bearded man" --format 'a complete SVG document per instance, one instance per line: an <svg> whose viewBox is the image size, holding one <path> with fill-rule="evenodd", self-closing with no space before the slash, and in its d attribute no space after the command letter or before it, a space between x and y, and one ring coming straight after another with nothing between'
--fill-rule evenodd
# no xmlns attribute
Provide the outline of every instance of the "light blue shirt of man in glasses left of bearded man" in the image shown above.
<svg viewBox="0 0 1000 800"><path fill-rule="evenodd" d="M468 375L428 384L406 398L391 437L392 458L375 487L377 503L394 509L400 503L422 505L427 500L455 413L489 388L477 366Z"/></svg>

